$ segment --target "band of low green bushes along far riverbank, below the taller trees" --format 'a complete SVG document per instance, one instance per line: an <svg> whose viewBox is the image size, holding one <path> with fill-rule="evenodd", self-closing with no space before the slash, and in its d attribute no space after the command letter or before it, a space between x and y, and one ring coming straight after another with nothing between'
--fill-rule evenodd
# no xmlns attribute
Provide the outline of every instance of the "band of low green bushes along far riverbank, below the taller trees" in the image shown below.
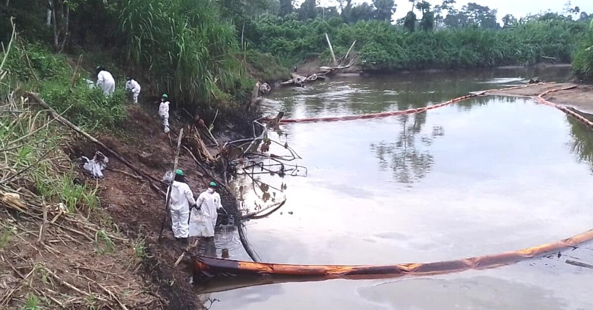
<svg viewBox="0 0 593 310"><path fill-rule="evenodd" d="M246 37L262 52L298 61L323 55L327 50L323 33L327 32L338 55L356 40L362 69L398 71L532 65L549 57L566 63L585 28L575 21L537 20L506 30L464 27L410 32L380 21L304 22L266 15L246 27Z"/></svg>

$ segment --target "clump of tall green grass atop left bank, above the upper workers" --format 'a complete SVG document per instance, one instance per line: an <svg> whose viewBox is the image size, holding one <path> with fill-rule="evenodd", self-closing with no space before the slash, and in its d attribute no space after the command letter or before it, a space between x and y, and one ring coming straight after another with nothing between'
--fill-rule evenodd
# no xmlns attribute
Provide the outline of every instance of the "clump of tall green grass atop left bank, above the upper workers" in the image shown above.
<svg viewBox="0 0 593 310"><path fill-rule="evenodd" d="M250 89L235 57L235 28L208 0L128 0L119 16L130 65L151 73L157 92L204 105L241 97Z"/></svg>

